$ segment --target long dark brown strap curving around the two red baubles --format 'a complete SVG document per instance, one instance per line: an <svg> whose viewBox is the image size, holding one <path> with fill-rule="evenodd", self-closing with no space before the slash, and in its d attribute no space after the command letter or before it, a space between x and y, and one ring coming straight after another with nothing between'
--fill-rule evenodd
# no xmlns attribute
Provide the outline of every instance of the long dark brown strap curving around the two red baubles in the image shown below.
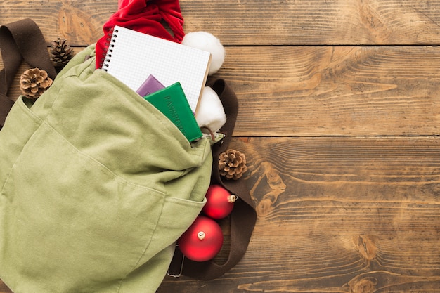
<svg viewBox="0 0 440 293"><path fill-rule="evenodd" d="M216 143L212 147L212 155L214 157L212 183L223 185L229 192L238 195L239 200L235 202L233 211L231 212L231 247L226 263L218 264L214 261L197 262L186 258L183 260L183 263L181 263L183 256L179 251L179 247L176 247L175 257L172 266L170 266L170 271L178 273L170 273L170 275L181 274L198 280L219 278L233 268L240 259L242 259L242 256L245 255L255 222L257 221L255 204L250 197L249 189L245 181L242 179L224 179L220 176L218 168L219 160L217 158L221 152L224 152L228 148L232 138L235 120L238 114L237 97L223 79L216 79L208 85L212 86L212 89L219 95L226 112L226 124L220 130L226 134L226 137L223 141Z"/></svg>

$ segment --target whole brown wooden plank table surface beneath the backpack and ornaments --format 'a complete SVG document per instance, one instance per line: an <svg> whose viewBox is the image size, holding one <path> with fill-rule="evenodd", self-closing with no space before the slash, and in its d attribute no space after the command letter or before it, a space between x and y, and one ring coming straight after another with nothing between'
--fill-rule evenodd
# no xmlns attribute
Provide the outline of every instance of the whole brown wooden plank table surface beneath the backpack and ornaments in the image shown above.
<svg viewBox="0 0 440 293"><path fill-rule="evenodd" d="M4 0L0 20L32 18L48 45L65 37L79 51L116 9ZM226 46L214 77L238 95L231 147L247 156L258 220L224 277L167 277L159 292L440 292L440 1L181 9L186 32Z"/></svg>

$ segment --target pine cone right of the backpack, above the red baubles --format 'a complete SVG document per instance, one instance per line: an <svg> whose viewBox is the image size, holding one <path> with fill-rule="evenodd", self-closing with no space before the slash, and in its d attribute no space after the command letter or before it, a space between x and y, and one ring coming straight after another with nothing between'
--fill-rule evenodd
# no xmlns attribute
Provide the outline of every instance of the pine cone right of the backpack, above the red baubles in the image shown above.
<svg viewBox="0 0 440 293"><path fill-rule="evenodd" d="M219 155L219 171L221 176L237 180L247 171L245 154L232 149L222 152Z"/></svg>

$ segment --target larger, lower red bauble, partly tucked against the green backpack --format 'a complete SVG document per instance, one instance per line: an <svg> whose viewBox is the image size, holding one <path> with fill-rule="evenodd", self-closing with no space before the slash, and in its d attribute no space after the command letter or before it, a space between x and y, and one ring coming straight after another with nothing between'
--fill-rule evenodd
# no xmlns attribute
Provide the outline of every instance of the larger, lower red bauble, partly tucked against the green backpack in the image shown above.
<svg viewBox="0 0 440 293"><path fill-rule="evenodd" d="M177 243L188 259L209 261L219 253L223 245L223 233L216 221L206 216L198 216Z"/></svg>

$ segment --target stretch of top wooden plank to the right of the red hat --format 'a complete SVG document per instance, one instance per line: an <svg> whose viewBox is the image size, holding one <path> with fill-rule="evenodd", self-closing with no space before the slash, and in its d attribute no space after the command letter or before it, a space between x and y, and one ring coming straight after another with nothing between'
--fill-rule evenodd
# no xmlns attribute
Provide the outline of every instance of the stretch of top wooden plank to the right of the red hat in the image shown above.
<svg viewBox="0 0 440 293"><path fill-rule="evenodd" d="M231 45L438 44L440 41L440 3L436 1L190 2L194 3L181 1L190 30L207 30ZM192 23L198 26L193 28ZM429 31L423 32L425 29Z"/></svg>

